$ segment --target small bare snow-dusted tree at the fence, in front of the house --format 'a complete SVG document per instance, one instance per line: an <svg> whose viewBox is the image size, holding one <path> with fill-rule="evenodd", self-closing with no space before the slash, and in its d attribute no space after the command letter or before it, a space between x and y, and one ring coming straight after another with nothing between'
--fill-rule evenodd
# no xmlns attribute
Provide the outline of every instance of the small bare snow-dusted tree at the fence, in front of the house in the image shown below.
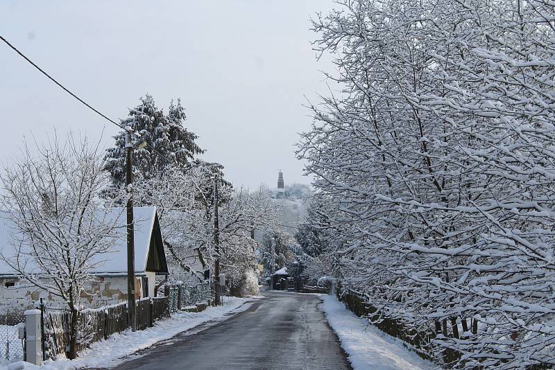
<svg viewBox="0 0 555 370"><path fill-rule="evenodd" d="M109 184L98 145L53 139L24 147L0 175L1 210L12 229L13 252L0 258L22 279L65 301L71 311L69 358L76 355L77 310L83 285L102 265L119 214L101 200Z"/></svg>

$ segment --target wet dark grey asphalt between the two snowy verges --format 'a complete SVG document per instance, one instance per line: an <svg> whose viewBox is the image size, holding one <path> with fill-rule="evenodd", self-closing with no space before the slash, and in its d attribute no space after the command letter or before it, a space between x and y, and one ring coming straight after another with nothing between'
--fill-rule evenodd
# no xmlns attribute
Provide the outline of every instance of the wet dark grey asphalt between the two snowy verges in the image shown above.
<svg viewBox="0 0 555 370"><path fill-rule="evenodd" d="M191 335L181 333L118 370L352 369L311 294L266 292L248 310Z"/></svg>

